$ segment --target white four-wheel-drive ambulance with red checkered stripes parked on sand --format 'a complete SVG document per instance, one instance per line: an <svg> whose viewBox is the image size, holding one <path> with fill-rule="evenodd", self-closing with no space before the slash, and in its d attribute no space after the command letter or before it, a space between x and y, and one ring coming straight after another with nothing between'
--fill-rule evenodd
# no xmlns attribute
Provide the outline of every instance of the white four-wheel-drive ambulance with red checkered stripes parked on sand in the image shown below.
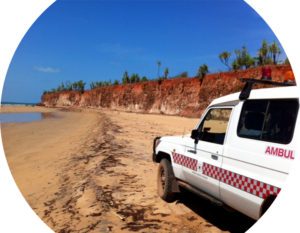
<svg viewBox="0 0 300 233"><path fill-rule="evenodd" d="M214 100L191 134L154 139L162 199L174 201L183 187L253 219L264 214L296 158L300 130L295 84L266 79L243 79L241 93ZM251 91L255 83L284 87Z"/></svg>

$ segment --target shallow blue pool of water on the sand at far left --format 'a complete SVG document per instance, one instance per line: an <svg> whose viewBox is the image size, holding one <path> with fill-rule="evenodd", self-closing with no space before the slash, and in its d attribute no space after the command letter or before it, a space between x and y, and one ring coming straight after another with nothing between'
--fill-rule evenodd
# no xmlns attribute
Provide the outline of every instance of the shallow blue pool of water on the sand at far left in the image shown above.
<svg viewBox="0 0 300 233"><path fill-rule="evenodd" d="M49 112L30 112L30 113L0 113L0 124L5 123L25 123L53 118L55 115Z"/></svg>

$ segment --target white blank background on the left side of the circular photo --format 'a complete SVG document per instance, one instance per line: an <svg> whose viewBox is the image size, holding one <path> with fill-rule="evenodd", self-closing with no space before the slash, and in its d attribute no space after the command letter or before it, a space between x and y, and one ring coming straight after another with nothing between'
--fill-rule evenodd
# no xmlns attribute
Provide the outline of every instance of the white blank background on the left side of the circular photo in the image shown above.
<svg viewBox="0 0 300 233"><path fill-rule="evenodd" d="M0 1L0 94L8 66L23 36L53 0ZM2 140L1 140L2 142ZM53 232L27 204L0 147L0 232Z"/></svg>

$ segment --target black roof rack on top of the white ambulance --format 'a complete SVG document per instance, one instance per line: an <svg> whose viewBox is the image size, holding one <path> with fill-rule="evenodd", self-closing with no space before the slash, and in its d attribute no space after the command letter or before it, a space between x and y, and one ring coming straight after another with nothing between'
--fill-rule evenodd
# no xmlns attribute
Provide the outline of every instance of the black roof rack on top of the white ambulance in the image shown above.
<svg viewBox="0 0 300 233"><path fill-rule="evenodd" d="M242 78L240 79L241 82L246 82L243 90L241 91L241 94L239 96L240 100L246 100L249 98L253 84L255 83L260 83L260 84L268 84L268 85L273 85L273 86L282 86L282 87L286 87L286 86L295 86L296 83L292 82L273 82L273 81L269 81L269 80L261 80L261 79L251 79L251 78Z"/></svg>

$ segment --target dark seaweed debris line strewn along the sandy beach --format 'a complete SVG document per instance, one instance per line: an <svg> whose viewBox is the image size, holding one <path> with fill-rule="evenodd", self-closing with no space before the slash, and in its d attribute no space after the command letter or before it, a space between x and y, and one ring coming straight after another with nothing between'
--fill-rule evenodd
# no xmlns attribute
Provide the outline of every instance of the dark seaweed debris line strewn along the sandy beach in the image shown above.
<svg viewBox="0 0 300 233"><path fill-rule="evenodd" d="M105 213L114 212L123 218L122 229L124 230L160 229L161 224L159 223L161 220L147 219L145 216L146 212L152 213L151 206L125 205L122 203L122 200L115 200L113 198L113 192L126 192L126 190L123 190L123 187L128 187L128 185L136 191L142 191L143 187L134 186L136 177L126 174L122 171L123 169L118 169L118 172L115 171L116 169L112 171L112 168L124 166L120 159L130 154L130 151L127 151L128 148L125 146L126 142L118 142L114 136L120 132L120 127L103 113L99 113L96 125L97 127L90 129L90 136L86 138L78 152L72 155L63 172L59 174L61 176L59 192L55 193L54 199L44 203L43 219L47 220L48 224L50 223L59 233L87 233L101 224ZM94 169L88 169L87 165L89 164L92 164ZM122 186L99 186L96 178L99 176L104 177L105 175L123 176L124 179L120 180ZM96 197L93 205L100 206L101 211L93 212L88 216L81 216L76 208L76 202L88 188L93 190ZM57 203L61 201L64 204L62 208L59 208ZM68 216L68 222L63 225L58 224L53 214L55 211L61 211ZM131 217L132 221L127 221L129 217ZM76 223L80 222L83 218L89 219L87 226L76 229ZM112 229L112 226L107 227Z"/></svg>

